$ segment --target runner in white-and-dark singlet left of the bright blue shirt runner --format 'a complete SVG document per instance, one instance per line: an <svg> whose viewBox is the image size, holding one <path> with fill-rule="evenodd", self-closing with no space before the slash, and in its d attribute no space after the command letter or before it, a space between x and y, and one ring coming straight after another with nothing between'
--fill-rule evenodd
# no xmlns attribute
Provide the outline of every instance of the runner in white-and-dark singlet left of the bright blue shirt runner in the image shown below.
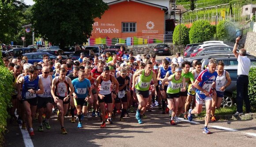
<svg viewBox="0 0 256 147"><path fill-rule="evenodd" d="M51 90L54 102L57 103L57 108L59 110L58 120L60 121L62 134L67 134L67 131L64 128L64 114L66 114L68 110L70 96L74 92L71 79L66 76L66 72L65 68L60 68L60 75L53 79Z"/></svg>

